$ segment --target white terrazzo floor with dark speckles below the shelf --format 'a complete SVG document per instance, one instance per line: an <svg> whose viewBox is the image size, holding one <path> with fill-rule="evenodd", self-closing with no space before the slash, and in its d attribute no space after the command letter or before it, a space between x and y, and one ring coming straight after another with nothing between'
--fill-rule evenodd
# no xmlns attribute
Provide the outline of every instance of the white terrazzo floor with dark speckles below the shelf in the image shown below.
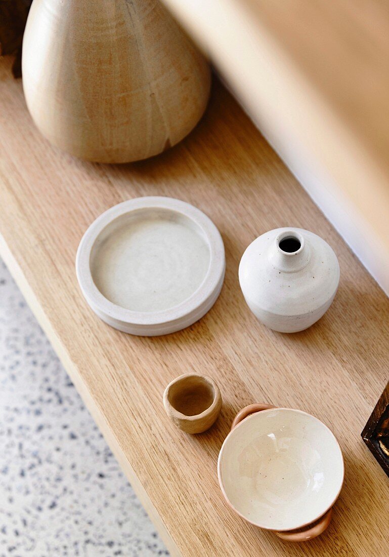
<svg viewBox="0 0 389 557"><path fill-rule="evenodd" d="M0 556L169 555L0 260Z"/></svg>

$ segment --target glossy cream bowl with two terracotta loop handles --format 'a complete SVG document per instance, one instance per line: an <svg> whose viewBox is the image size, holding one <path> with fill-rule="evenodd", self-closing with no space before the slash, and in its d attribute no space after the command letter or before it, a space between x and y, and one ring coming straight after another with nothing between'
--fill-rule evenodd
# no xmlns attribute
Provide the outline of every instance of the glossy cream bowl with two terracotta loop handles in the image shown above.
<svg viewBox="0 0 389 557"><path fill-rule="evenodd" d="M331 521L344 462L333 433L311 414L251 404L224 440L218 476L243 519L285 541L307 541Z"/></svg>

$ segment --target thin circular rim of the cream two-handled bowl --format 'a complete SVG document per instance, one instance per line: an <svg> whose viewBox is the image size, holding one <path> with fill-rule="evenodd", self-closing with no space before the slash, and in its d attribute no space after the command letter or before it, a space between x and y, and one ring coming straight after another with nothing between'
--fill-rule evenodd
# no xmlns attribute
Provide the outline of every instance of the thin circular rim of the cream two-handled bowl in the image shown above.
<svg viewBox="0 0 389 557"><path fill-rule="evenodd" d="M331 504L329 504L327 506L326 509L324 509L323 511L320 512L320 514L318 514L317 516L313 516L312 520L309 520L307 522L304 522L304 524L299 524L297 526L293 526L293 527L287 527L287 528L279 528L279 527L275 527L275 528L270 528L269 526L263 526L262 524L259 524L258 522L254 522L250 519L248 519L246 516L244 516L241 512L239 512L235 506L232 504L232 502L228 499L228 496L225 492L224 489L224 484L223 484L223 477L221 474L221 459L223 458L223 452L226 446L226 443L228 443L228 440L231 438L232 434L235 434L235 431L239 430L240 426L242 426L242 424L248 420L252 420L252 419L258 419L259 415L264 415L267 414L269 412L274 412L274 411L292 411L292 412L296 412L299 414L304 414L306 416L309 416L309 418L313 418L314 420L316 420L318 423L321 424L321 426L323 426L324 428L326 428L329 433L331 433L334 441L337 444L337 447L339 449L339 455L341 456L341 462L342 462L342 475L341 475L341 481L339 482L339 489L337 491L336 496L333 497L333 500L331 502ZM219 485L220 485L220 489L221 492L223 493L224 499L226 500L226 502L228 503L228 505L231 507L231 509L233 509L234 512L236 512L240 517L242 517L242 519L244 519L245 521L249 522L249 524L252 524L253 526L258 526L259 528L263 528L264 530L270 530L270 531L277 531L277 532L288 532L288 531L292 531L292 530L297 530L299 528L304 528L306 526L309 526L311 524L313 524L314 522L316 522L317 520L319 520L323 515L326 514L326 512L331 509L331 507L333 507L333 505L335 504L335 502L337 501L341 491L342 491L342 487L343 487L343 482L344 482L344 457L343 457L343 452L342 452L342 448L339 444L338 439L334 436L334 433L331 431L331 429L324 423L322 422L319 418L317 418L316 416L313 416L312 414L309 414L308 412L304 412L303 410L299 410L297 408L288 408L288 407L275 407L275 408L268 408L266 410L261 410L259 412L254 412L253 414L250 414L249 416L247 416L246 418L244 418L242 420L242 422L238 423L237 426L234 427L234 429L232 429L228 435L226 436L226 438L223 441L223 444L220 448L220 452L219 452L219 457L218 457L218 480L219 480Z"/></svg>

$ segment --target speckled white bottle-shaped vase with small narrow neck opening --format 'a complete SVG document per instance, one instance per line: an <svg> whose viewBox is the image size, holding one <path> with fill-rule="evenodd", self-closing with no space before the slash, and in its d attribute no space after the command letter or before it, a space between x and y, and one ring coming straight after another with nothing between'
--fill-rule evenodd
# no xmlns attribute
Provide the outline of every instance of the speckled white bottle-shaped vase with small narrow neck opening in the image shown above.
<svg viewBox="0 0 389 557"><path fill-rule="evenodd" d="M332 304L339 263L322 238L302 228L277 228L252 242L239 265L250 310L280 333L307 329Z"/></svg>

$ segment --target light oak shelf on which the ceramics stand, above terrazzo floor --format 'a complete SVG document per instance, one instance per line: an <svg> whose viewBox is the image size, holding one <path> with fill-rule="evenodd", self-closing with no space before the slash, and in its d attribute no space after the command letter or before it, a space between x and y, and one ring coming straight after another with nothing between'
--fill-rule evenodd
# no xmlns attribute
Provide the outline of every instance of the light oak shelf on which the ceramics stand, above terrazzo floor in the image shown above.
<svg viewBox="0 0 389 557"><path fill-rule="evenodd" d="M0 65L1 255L173 555L387 556L388 483L360 433L387 383L389 301L239 106L219 85L198 128L143 163L82 163L52 148L28 116L10 63ZM102 323L75 276L88 224L136 196L184 199L215 222L226 248L220 297L198 323L137 338ZM239 289L238 263L259 234L303 227L334 248L341 281L311 329L274 333ZM189 436L166 416L166 384L216 380L218 421ZM219 449L235 414L259 402L300 408L332 428L346 481L325 534L304 546L246 524L224 502Z"/></svg>

